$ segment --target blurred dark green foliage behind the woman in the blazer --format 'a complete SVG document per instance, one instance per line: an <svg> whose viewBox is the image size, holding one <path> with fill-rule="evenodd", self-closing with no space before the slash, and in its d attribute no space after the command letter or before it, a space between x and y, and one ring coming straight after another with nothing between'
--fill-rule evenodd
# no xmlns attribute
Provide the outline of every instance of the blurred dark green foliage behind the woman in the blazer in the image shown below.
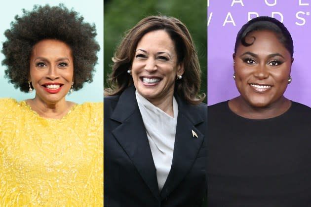
<svg viewBox="0 0 311 207"><path fill-rule="evenodd" d="M207 95L206 9L206 0L104 0L104 87L108 87L111 59L125 32L146 16L166 15L178 18L188 27L202 70L201 93Z"/></svg>

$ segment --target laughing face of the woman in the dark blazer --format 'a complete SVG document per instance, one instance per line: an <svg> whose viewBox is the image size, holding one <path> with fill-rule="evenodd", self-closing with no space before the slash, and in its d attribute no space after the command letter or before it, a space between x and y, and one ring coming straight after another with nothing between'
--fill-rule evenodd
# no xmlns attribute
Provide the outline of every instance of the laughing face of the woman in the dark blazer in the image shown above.
<svg viewBox="0 0 311 207"><path fill-rule="evenodd" d="M149 32L138 42L132 64L133 82L138 93L151 103L172 97L176 75L183 72L174 42L164 30Z"/></svg>

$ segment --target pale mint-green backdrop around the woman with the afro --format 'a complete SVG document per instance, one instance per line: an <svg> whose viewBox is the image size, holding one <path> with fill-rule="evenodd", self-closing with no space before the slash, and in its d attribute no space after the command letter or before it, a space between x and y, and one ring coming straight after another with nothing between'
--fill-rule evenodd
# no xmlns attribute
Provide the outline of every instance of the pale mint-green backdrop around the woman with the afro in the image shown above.
<svg viewBox="0 0 311 207"><path fill-rule="evenodd" d="M84 102L103 102L103 49L104 49L104 5L103 0L7 0L2 2L0 6L0 49L2 43L6 40L3 35L4 31L10 29L10 23L14 21L15 15L22 15L22 9L32 10L35 4L50 6L64 3L64 5L71 9L73 8L81 16L84 21L96 25L97 36L96 40L101 49L97 53L98 64L95 66L94 81L92 83L84 83L83 88L74 91L73 94L68 95L66 100L82 104ZM4 59L0 53L0 61ZM13 84L8 83L8 79L4 78L4 69L0 65L0 98L14 98L18 101L31 99L35 97L33 93L23 93L19 89L15 89Z"/></svg>

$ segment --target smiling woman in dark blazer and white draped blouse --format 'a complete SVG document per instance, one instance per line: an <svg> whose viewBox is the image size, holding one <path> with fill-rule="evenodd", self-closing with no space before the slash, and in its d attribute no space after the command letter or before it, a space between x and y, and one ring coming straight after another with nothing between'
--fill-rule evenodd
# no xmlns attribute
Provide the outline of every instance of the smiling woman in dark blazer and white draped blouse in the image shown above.
<svg viewBox="0 0 311 207"><path fill-rule="evenodd" d="M104 206L200 207L207 106L186 26L141 20L123 38L104 98Z"/></svg>

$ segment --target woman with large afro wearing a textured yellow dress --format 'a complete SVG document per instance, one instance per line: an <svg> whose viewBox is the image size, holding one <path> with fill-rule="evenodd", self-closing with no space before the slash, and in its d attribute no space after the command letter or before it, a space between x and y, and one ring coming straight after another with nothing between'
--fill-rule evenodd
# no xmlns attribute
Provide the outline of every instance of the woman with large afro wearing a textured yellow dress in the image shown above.
<svg viewBox="0 0 311 207"><path fill-rule="evenodd" d="M65 99L93 81L95 25L35 5L4 35L5 77L35 98L0 99L0 206L103 206L103 103Z"/></svg>

